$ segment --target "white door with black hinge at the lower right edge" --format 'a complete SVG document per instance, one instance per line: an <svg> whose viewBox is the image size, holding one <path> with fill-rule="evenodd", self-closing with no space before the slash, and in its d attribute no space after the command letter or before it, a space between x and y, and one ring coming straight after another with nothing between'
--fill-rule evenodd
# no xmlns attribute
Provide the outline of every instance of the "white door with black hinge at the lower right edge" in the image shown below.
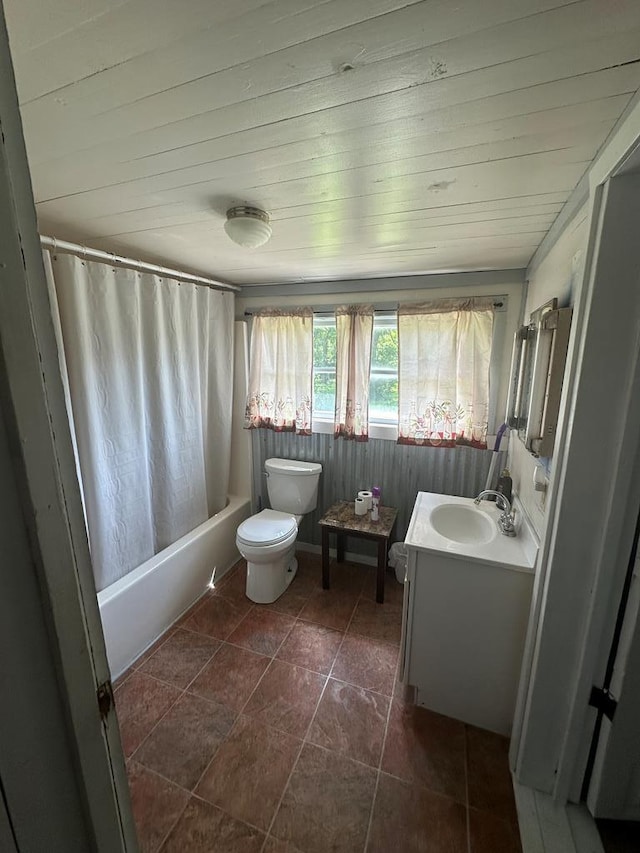
<svg viewBox="0 0 640 853"><path fill-rule="evenodd" d="M601 715L587 805L595 817L640 820L640 557L635 555L609 693Z"/></svg>

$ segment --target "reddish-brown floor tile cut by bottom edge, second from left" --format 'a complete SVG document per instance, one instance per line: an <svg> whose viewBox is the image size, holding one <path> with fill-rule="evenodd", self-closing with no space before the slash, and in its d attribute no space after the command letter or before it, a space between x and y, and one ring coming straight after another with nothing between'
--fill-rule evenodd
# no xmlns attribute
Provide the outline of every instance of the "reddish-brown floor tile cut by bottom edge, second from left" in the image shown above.
<svg viewBox="0 0 640 853"><path fill-rule="evenodd" d="M162 853L260 853L264 834L192 797Z"/></svg>

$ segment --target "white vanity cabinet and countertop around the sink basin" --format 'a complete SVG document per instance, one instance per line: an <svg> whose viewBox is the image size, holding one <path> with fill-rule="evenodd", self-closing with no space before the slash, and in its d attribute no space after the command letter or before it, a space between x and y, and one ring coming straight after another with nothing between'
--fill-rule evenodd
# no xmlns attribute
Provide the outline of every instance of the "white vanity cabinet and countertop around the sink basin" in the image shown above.
<svg viewBox="0 0 640 853"><path fill-rule="evenodd" d="M418 705L508 735L537 545L528 528L510 538L497 525L495 536L479 544L441 536L429 519L444 502L474 506L418 493L405 539L403 681L416 688ZM492 521L499 515L495 503L475 509Z"/></svg>

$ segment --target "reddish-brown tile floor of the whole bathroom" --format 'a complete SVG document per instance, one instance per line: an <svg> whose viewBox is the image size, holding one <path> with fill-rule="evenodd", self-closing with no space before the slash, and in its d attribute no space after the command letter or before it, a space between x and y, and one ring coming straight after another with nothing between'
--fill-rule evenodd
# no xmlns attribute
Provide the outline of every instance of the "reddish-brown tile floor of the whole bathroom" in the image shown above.
<svg viewBox="0 0 640 853"><path fill-rule="evenodd" d="M125 673L144 853L520 853L507 741L405 701L402 588L299 554L269 606L238 565Z"/></svg>

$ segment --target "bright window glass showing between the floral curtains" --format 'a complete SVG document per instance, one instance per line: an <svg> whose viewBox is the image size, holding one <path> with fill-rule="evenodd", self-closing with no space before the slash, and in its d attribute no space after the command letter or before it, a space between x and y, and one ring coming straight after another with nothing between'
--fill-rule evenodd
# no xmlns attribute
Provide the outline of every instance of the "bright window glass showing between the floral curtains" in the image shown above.
<svg viewBox="0 0 640 853"><path fill-rule="evenodd" d="M395 311L376 311L373 320L369 423L398 423L398 323ZM313 315L313 421L331 421L336 394L336 320L333 314ZM378 436L381 437L381 436ZM390 436L389 436L390 437Z"/></svg>

